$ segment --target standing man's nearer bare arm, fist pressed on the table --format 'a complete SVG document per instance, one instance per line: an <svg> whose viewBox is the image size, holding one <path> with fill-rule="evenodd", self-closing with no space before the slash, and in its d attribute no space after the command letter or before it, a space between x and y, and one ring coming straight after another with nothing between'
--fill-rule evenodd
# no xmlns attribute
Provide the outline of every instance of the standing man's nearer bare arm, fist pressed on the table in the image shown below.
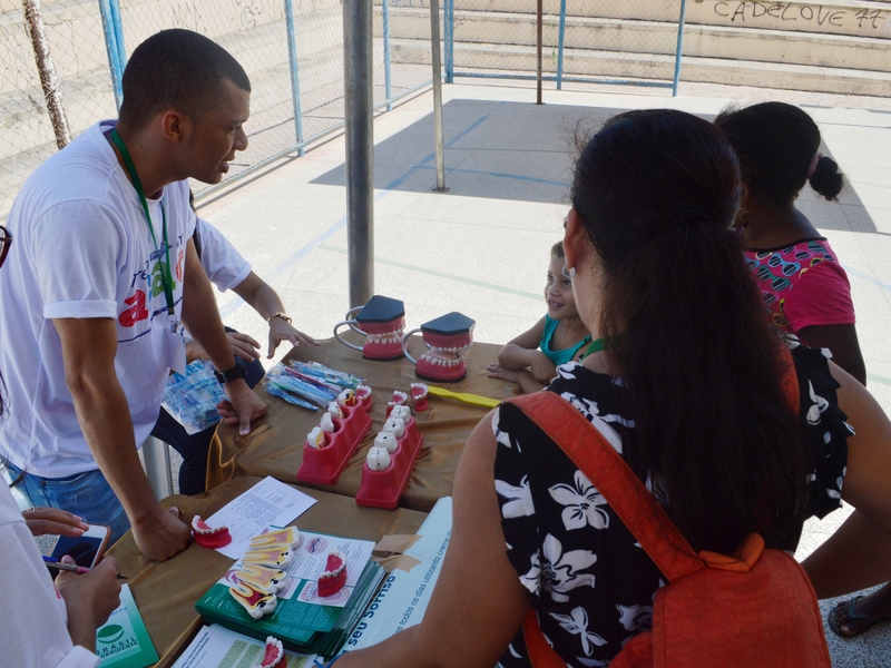
<svg viewBox="0 0 891 668"><path fill-rule="evenodd" d="M189 530L161 509L139 463L130 409L115 371L115 321L59 318L53 324L65 381L96 463L120 500L143 554L156 561L169 559L185 549Z"/></svg>

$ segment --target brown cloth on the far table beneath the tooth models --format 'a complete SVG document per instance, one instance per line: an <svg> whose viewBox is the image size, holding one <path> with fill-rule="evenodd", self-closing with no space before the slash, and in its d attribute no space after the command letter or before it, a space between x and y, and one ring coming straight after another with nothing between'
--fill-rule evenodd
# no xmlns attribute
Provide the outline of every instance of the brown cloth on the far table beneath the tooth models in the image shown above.
<svg viewBox="0 0 891 668"><path fill-rule="evenodd" d="M345 338L360 341L352 332ZM409 350L414 357L423 353L425 348L420 336L412 337ZM456 392L470 392L498 400L515 396L519 392L517 385L486 376L486 366L498 358L501 346L498 345L474 343L464 357L467 377L456 383L437 384ZM316 361L337 371L350 372L365 379L372 389L374 404L371 411L371 431L360 443L337 482L333 485L300 483L354 498L362 480L365 455L383 426L386 403L391 400L393 390L410 392L411 383L421 381L414 375L414 366L408 360L364 360L360 352L346 347L335 338L325 341L319 347L293 348L285 361L292 358ZM288 404L268 395L260 386L257 393L270 406L267 416L247 436L238 435L236 426L219 425L210 443L207 489L241 475L272 475L283 482L297 482L297 469L303 461L303 442L310 430L319 424L322 413ZM430 396L429 409L414 415L424 442L400 500L401 507L429 512L438 499L451 495L454 472L464 443L487 412L487 409L453 399Z"/></svg>

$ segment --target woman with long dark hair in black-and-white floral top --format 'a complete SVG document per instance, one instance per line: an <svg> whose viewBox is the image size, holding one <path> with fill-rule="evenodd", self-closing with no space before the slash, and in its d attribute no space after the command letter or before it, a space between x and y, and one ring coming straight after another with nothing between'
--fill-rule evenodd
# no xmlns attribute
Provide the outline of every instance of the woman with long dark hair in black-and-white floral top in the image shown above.
<svg viewBox="0 0 891 668"><path fill-rule="evenodd" d="M564 239L579 314L607 345L558 367L548 391L620 452L695 550L731 552L755 529L793 549L802 521L840 497L888 533L891 423L804 346L792 346L801 405L790 410L785 343L764 322L730 228L740 193L736 157L712 124L674 110L607 122L577 163ZM513 404L468 441L453 513L423 621L336 668L529 666L519 629L530 607L571 668L608 665L649 627L660 573ZM864 582L828 569L814 584Z"/></svg>

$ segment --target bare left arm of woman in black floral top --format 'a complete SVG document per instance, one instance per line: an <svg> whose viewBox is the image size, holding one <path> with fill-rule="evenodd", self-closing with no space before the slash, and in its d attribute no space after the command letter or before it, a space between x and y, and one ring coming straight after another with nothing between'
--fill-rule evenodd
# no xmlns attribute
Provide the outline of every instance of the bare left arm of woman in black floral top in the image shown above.
<svg viewBox="0 0 891 668"><path fill-rule="evenodd" d="M495 490L490 413L468 440L454 478L453 528L424 618L334 668L495 666L522 623L529 593L508 561Z"/></svg>

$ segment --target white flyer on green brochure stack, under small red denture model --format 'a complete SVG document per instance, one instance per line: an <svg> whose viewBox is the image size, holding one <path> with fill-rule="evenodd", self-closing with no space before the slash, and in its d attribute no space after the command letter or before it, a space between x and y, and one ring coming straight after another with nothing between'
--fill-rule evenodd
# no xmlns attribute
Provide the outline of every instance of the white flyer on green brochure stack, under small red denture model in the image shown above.
<svg viewBox="0 0 891 668"><path fill-rule="evenodd" d="M370 540L301 531L300 542L293 550L293 561L285 570L288 576L287 589L278 593L278 598L291 599L296 596L297 600L304 603L343 608L353 593L362 569L371 559L373 549L374 543ZM319 576L324 571L327 554L332 550L346 557L346 583L336 593L321 597L319 596ZM237 578L241 568L242 562L236 561L232 569L221 578L219 583L231 586L233 579Z"/></svg>

